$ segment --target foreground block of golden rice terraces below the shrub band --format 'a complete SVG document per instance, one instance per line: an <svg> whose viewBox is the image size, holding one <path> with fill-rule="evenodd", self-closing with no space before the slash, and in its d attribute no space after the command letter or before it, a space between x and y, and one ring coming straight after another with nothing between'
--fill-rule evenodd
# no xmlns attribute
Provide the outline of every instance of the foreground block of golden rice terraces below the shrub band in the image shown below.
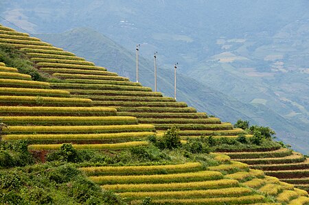
<svg viewBox="0 0 309 205"><path fill-rule="evenodd" d="M308 193L241 162L203 167L199 162L179 165L81 167L102 186L132 204L151 197L158 204L255 204L271 195L278 204L306 200ZM267 204L267 203L266 203ZM268 203L269 204L269 203Z"/></svg>

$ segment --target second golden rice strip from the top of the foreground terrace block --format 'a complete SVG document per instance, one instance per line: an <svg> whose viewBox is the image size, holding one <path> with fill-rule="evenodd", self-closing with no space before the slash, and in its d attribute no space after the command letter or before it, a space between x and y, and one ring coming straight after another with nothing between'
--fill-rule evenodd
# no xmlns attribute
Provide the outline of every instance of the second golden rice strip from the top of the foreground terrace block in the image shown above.
<svg viewBox="0 0 309 205"><path fill-rule="evenodd" d="M202 180L222 179L218 171L198 171L190 173L170 173L139 176L90 176L89 179L98 184L139 184L139 183L168 183L194 182Z"/></svg>

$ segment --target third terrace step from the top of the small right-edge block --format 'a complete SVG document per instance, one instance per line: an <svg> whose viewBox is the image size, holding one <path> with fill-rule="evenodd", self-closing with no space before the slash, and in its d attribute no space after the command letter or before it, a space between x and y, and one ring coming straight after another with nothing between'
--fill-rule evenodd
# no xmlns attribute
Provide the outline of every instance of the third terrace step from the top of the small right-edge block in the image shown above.
<svg viewBox="0 0 309 205"><path fill-rule="evenodd" d="M299 153L293 152L290 156L278 157L278 158L234 158L233 160L244 162L248 165L266 165L266 164L283 164L283 163L299 163L304 162L306 158Z"/></svg>

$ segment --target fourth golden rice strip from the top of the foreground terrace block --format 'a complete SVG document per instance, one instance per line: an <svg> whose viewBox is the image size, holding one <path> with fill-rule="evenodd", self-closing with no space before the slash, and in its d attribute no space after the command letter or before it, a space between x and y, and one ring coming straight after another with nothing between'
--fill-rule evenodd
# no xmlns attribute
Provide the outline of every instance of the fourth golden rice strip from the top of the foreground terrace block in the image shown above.
<svg viewBox="0 0 309 205"><path fill-rule="evenodd" d="M244 187L232 187L223 189L207 189L207 190L190 190L190 191L154 191L154 192L124 192L119 193L121 197L129 199L142 199L151 197L153 199L186 199L186 198L203 198L203 197L220 197L220 196L242 196L252 193L251 189Z"/></svg>

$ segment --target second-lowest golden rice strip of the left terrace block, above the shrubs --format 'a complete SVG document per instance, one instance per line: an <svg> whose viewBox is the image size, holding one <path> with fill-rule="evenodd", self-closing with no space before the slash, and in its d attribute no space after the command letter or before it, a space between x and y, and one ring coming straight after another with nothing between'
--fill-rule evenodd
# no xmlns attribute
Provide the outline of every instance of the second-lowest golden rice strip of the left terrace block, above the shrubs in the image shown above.
<svg viewBox="0 0 309 205"><path fill-rule="evenodd" d="M155 135L154 132L122 132L108 134L8 134L2 140L38 140L38 141L80 141L80 140L106 140L118 138L143 138Z"/></svg>

